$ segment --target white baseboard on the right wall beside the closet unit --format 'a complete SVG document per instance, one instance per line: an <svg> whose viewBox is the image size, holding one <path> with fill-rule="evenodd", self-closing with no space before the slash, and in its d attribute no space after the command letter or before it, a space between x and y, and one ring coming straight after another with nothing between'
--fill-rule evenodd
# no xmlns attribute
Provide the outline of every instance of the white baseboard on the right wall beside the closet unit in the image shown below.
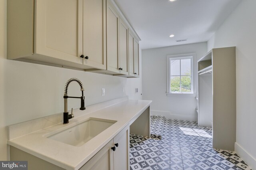
<svg viewBox="0 0 256 170"><path fill-rule="evenodd" d="M252 170L256 170L256 158L254 158L247 150L242 148L237 142L235 142L235 152L244 160L244 162L250 166Z"/></svg>

